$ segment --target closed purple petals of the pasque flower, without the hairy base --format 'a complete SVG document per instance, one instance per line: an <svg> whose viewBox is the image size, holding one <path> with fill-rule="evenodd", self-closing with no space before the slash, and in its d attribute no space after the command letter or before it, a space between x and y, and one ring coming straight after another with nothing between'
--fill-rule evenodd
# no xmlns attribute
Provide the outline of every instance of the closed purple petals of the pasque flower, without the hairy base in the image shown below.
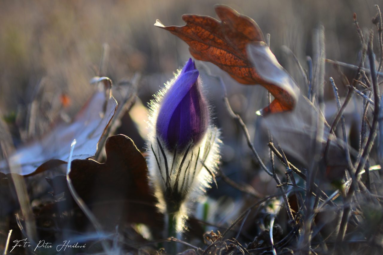
<svg viewBox="0 0 383 255"><path fill-rule="evenodd" d="M189 58L162 99L156 130L169 151L183 151L190 143L198 143L208 128L209 110L198 75Z"/></svg>

